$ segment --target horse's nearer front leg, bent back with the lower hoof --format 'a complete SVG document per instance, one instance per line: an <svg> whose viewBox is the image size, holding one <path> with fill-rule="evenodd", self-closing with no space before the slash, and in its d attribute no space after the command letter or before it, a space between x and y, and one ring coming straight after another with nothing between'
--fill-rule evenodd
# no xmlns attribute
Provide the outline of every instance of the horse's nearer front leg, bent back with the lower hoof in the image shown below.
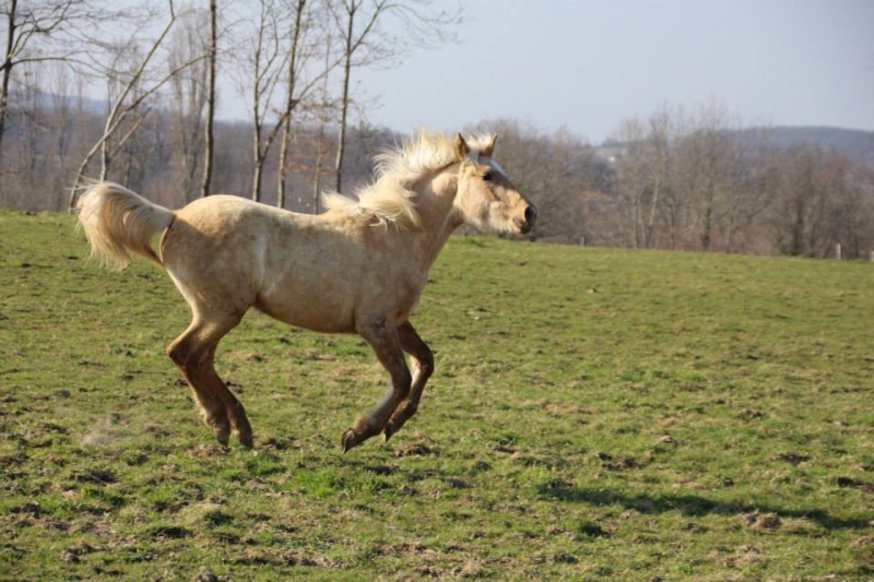
<svg viewBox="0 0 874 582"><path fill-rule="evenodd" d="M370 344L380 364L389 371L391 392L375 408L359 415L355 419L355 425L343 432L341 444L344 453L382 431L398 404L410 393L412 382L410 369L403 358L398 328L394 324L379 319L362 325L358 333Z"/></svg>

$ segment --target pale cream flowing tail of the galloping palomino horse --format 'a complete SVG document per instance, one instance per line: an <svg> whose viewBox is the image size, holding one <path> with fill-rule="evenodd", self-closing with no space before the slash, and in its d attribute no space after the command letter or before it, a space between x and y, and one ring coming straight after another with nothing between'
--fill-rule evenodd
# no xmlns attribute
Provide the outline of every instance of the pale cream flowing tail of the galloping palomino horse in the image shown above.
<svg viewBox="0 0 874 582"><path fill-rule="evenodd" d="M173 223L176 215L172 210L113 182L90 186L76 206L91 254L103 264L125 269L130 263L128 251L132 251L164 266L152 239Z"/></svg>

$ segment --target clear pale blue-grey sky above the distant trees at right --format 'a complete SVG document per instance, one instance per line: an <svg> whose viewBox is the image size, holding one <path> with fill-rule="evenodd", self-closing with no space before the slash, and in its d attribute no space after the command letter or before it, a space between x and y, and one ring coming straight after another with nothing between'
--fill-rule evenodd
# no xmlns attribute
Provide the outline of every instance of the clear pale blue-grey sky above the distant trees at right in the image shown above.
<svg viewBox="0 0 874 582"><path fill-rule="evenodd" d="M439 4L440 0L437 0ZM454 2L447 2L456 5ZM458 44L357 70L402 133L509 118L600 143L663 105L874 131L874 0L469 0Z"/></svg>

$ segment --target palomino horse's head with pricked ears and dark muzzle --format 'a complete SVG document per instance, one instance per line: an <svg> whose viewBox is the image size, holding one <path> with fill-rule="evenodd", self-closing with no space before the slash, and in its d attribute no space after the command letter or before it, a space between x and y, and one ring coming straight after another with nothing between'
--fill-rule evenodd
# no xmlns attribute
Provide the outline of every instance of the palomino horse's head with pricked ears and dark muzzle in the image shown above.
<svg viewBox="0 0 874 582"><path fill-rule="evenodd" d="M497 135L471 149L456 135L456 155L461 163L454 206L464 222L498 233L525 235L534 227L538 209L516 189L504 169L492 161Z"/></svg>

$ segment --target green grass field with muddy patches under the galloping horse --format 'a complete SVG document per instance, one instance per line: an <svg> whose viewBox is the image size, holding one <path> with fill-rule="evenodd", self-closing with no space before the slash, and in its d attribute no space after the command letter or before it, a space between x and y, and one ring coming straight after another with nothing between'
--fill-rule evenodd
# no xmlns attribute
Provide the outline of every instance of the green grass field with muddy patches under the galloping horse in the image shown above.
<svg viewBox="0 0 874 582"><path fill-rule="evenodd" d="M344 456L359 338L250 313L224 451L167 276L86 251L0 211L0 580L874 579L872 264L453 239L418 415Z"/></svg>

